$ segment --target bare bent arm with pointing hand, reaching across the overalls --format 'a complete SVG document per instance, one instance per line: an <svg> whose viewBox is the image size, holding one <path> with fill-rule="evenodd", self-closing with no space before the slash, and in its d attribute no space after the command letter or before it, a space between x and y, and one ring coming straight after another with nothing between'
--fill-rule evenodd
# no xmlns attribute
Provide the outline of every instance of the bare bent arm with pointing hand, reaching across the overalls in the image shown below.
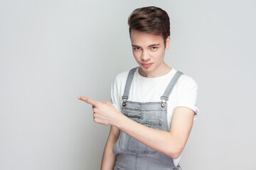
<svg viewBox="0 0 256 170"><path fill-rule="evenodd" d="M185 147L193 125L194 112L186 107L174 109L171 118L171 129L169 132L165 132L146 127L127 118L119 113L110 102L94 101L85 97L80 99L93 106L95 123L116 126L119 130L126 132L147 147L174 159L178 158Z"/></svg>

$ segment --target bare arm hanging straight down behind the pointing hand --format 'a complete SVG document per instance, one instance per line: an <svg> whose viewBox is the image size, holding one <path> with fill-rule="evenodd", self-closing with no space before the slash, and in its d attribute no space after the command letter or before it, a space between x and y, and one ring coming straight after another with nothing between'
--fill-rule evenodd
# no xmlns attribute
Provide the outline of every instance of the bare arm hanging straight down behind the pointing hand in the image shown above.
<svg viewBox="0 0 256 170"><path fill-rule="evenodd" d="M101 170L112 170L116 161L116 156L112 149L118 140L120 130L117 127L111 126L110 135L107 138L105 149L102 156Z"/></svg>

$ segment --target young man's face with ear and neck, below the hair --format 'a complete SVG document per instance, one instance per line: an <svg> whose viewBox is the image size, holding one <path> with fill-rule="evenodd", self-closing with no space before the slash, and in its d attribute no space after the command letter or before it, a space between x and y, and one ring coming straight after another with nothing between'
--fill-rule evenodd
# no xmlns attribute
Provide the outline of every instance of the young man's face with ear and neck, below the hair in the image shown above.
<svg viewBox="0 0 256 170"><path fill-rule="evenodd" d="M132 52L140 66L139 74L144 77L159 77L166 74L167 65L164 63L164 52L169 49L170 37L131 30Z"/></svg>

